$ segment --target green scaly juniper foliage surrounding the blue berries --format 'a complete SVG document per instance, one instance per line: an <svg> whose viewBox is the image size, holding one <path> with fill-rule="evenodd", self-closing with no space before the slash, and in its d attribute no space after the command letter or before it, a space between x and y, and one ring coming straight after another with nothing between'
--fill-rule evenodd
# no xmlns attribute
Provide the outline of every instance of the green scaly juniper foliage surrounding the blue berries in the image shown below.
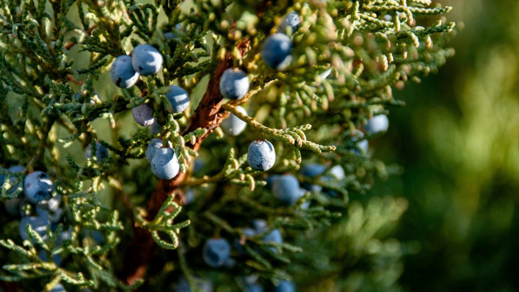
<svg viewBox="0 0 519 292"><path fill-rule="evenodd" d="M25 167L16 174L1 170L6 179L0 200L21 194L21 188L7 191L29 172L42 170L56 183L54 194L61 196L64 212L56 229L47 230L46 240L28 227L29 239L23 242L15 228L18 219L2 213L1 281L28 291L50 290L60 282L71 290L130 291L144 284L144 290L158 291L169 289L177 281L172 275L181 271L193 290L195 275L238 290L244 288L242 276L254 274L267 286L291 279L310 283L301 285L302 290L330 290L330 283L346 287L359 277L369 279L351 286L361 291L382 285L374 274L386 269L383 277L398 289L399 274L390 270L401 264L401 254L391 251L400 244L383 237L406 201L373 199L364 211L350 200L370 190L375 178L386 179L401 169L372 159L371 152L359 154L351 138L368 118L403 105L394 99L392 87L408 80L419 83L453 56L454 50L444 44L455 34L454 23L417 25L421 17L443 14L449 7L428 0L196 0L187 11L180 1L0 0L0 8L0 164ZM261 60L261 44L290 10L302 24L293 36L292 62L278 72ZM177 30L179 23L185 29ZM168 41L167 32L177 37ZM101 88L108 79L112 61L140 43L159 49L162 71L141 76L129 89L115 91L106 84L111 89L98 95L94 87ZM76 58L88 58L86 65L74 63L72 48ZM224 137L217 124L186 131L199 122L193 112L206 106L200 103L194 110L199 91L208 78L217 82L219 76L213 74L228 57L247 72L251 91L243 100L223 104L218 114L235 114L249 125L247 131ZM330 77L321 77L326 70L331 70ZM191 111L173 115L165 110L164 95L173 83L190 94ZM209 98L218 98L211 95L208 91ZM148 135L126 118L143 103L154 107L162 127L158 134ZM253 115L237 111L239 104ZM110 128L100 127L99 120ZM276 164L267 172L245 165L247 147L258 136L275 145ZM166 190L170 182L157 184L142 159L154 137L164 145L171 142L179 158L182 174L174 190ZM95 155L83 160L87 145L95 153L96 141L111 154L102 162ZM197 156L205 165L195 172ZM327 171L340 166L345 177L299 175L299 163L308 162L321 163ZM294 206L283 205L265 179L285 172L324 191L308 191ZM150 212L161 192L169 196L159 202L156 214ZM184 194L189 192L194 201L186 204ZM36 215L33 207L25 207L29 215ZM119 213L124 214L120 220ZM347 218L340 218L343 213ZM267 221L267 230L245 236L242 229L256 218ZM284 241L264 242L276 228ZM147 263L143 278L129 281L118 271L125 268L121 259L132 236L141 234L136 229L151 234L154 253L160 256ZM63 230L71 236L57 245ZM102 232L104 242L94 240L92 232ZM234 268L214 270L203 263L201 246L214 236L243 246L244 253L231 254ZM171 254L169 249L175 248ZM38 249L45 250L48 262L36 256ZM51 255L61 255L63 267ZM379 259L391 263L379 264ZM323 264L331 261L333 266Z"/></svg>

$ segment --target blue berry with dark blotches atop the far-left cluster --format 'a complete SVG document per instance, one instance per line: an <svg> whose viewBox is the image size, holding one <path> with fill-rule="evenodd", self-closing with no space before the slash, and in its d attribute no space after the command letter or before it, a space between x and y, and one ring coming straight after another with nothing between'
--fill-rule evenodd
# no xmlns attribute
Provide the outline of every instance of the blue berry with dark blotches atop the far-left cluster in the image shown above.
<svg viewBox="0 0 519 292"><path fill-rule="evenodd" d="M26 175L23 180L23 188L27 200L33 204L49 200L54 191L54 182L42 171L34 171Z"/></svg>

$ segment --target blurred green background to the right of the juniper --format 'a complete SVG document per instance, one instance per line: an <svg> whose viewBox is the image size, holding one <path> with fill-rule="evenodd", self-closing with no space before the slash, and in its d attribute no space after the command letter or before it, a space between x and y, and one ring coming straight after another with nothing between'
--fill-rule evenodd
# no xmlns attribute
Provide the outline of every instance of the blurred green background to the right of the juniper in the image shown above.
<svg viewBox="0 0 519 292"><path fill-rule="evenodd" d="M370 195L403 196L394 235L418 241L401 285L411 291L519 290L519 1L442 0L465 29L437 75L393 94L375 157L405 173Z"/></svg>

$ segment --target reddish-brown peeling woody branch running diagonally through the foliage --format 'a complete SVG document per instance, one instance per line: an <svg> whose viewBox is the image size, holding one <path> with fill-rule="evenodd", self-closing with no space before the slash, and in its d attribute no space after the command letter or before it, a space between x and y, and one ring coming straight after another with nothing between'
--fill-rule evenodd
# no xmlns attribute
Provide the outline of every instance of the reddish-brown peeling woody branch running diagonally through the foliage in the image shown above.
<svg viewBox="0 0 519 292"><path fill-rule="evenodd" d="M245 54L245 49L249 46L249 39L243 39L237 45L242 56ZM209 80L207 90L204 93L198 108L190 119L190 123L183 131L182 135L192 132L198 128L207 129L207 134L197 137L194 144L188 143L188 147L197 151L202 144L202 141L220 125L220 122L227 115L227 113L220 112L222 101L224 97L220 94L220 77L224 71L233 67L234 60L229 52L218 63L216 70ZM150 198L147 205L146 219L151 221L157 216L158 210L166 201L169 195L175 192L176 188L184 181L186 174L180 173L171 180L159 180L155 191ZM180 196L179 196L180 198ZM124 259L122 261L122 269L119 277L126 284L131 285L135 280L143 278L146 274L146 268L153 256L153 247L155 243L149 231L139 228L134 225L132 227L133 236L128 244Z"/></svg>

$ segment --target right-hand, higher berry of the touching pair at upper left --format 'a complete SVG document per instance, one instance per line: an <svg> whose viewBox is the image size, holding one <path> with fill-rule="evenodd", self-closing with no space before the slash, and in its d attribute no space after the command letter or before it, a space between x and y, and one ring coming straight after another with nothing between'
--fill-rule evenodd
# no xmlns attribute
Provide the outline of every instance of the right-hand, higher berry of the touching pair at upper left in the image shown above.
<svg viewBox="0 0 519 292"><path fill-rule="evenodd" d="M152 75L162 66L162 55L152 45L141 44L133 48L131 64L135 72L143 76Z"/></svg>

